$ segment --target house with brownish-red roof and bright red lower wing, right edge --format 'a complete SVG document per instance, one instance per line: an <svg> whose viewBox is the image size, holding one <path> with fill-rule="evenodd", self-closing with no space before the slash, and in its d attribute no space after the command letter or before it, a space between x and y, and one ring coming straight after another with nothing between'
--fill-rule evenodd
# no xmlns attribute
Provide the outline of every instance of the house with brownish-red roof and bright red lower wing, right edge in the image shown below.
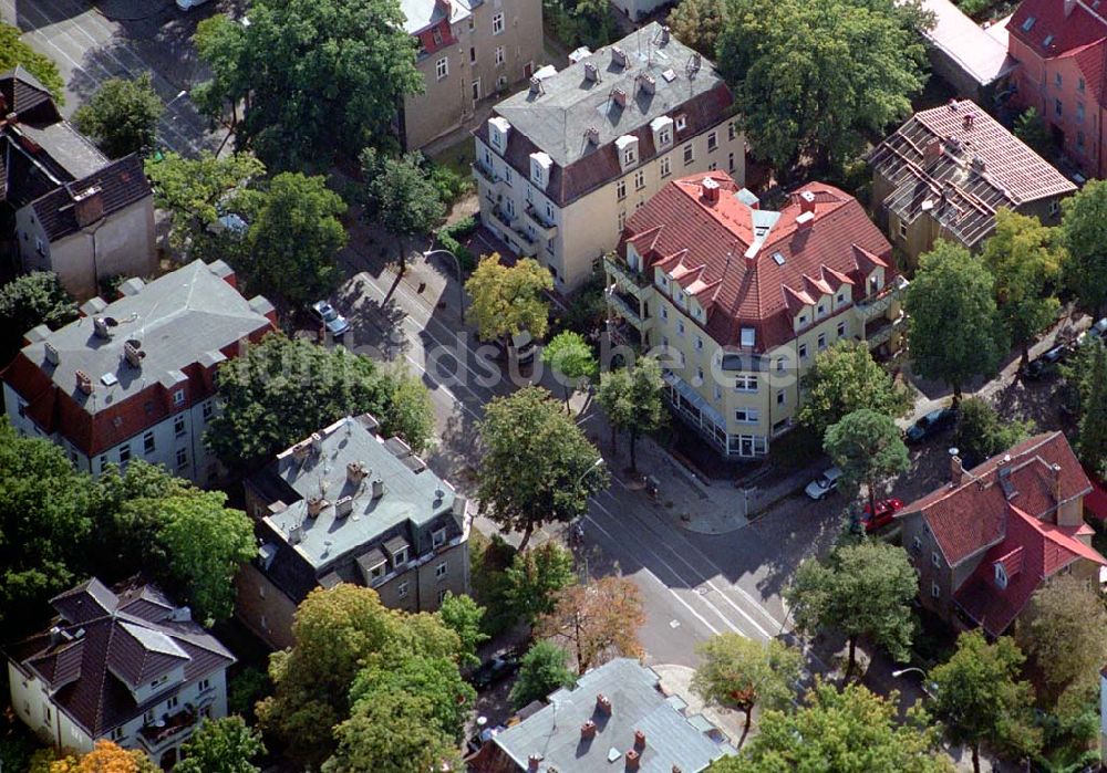
<svg viewBox="0 0 1107 773"><path fill-rule="evenodd" d="M948 483L897 515L923 607L1000 636L1049 577L1098 586L1107 560L1084 522L1092 484L1064 435L1035 436L971 470L955 455L950 463Z"/></svg>

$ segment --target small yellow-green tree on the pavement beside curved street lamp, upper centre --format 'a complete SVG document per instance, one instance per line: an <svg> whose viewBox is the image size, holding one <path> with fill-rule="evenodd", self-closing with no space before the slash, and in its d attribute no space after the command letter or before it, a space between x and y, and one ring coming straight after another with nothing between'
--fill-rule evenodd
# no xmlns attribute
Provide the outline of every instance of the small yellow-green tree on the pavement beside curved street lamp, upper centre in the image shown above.
<svg viewBox="0 0 1107 773"><path fill-rule="evenodd" d="M552 289L549 270L532 258L515 265L500 263L496 253L482 258L465 282L477 335L482 341L506 341L527 331L541 340L549 325L549 303L542 294Z"/></svg>

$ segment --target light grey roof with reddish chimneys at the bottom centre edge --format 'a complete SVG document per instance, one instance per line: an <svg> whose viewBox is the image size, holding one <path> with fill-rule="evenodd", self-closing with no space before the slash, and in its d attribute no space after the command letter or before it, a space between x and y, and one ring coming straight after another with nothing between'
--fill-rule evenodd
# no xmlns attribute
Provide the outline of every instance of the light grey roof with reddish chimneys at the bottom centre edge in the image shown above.
<svg viewBox="0 0 1107 773"><path fill-rule="evenodd" d="M621 772L627 751L634 748L635 730L645 733L641 773L672 773L673 765L683 773L699 773L712 761L735 753L730 744L706 734L714 731L722 738L714 725L699 714L685 717L683 702L666 698L658 683L658 675L637 660L612 660L582 676L575 689L551 694L549 706L501 731L493 742L524 771L530 755L540 754L540 773ZM597 711L598 693L611 700L610 717ZM596 722L597 732L584 742L580 728L588 720ZM609 761L612 753L618 753L614 762Z"/></svg>

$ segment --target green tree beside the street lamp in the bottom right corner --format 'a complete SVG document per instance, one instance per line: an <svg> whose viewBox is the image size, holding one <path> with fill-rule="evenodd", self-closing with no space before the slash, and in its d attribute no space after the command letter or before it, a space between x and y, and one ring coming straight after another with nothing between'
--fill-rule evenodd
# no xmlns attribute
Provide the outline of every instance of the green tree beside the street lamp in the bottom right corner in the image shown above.
<svg viewBox="0 0 1107 773"><path fill-rule="evenodd" d="M972 749L973 771L980 773L980 744L1033 754L1042 732L1033 724L1034 690L1018 681L1025 656L1002 636L989 644L979 630L961 634L956 651L930 672L934 682L934 715L950 741Z"/></svg>

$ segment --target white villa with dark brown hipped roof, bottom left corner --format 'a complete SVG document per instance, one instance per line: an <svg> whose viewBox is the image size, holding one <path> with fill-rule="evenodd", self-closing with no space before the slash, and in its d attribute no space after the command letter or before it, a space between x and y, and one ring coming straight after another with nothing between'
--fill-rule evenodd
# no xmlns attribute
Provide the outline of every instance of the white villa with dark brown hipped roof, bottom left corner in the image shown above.
<svg viewBox="0 0 1107 773"><path fill-rule="evenodd" d="M165 770L203 719L227 715L235 657L153 585L99 579L51 599L50 628L8 647L14 713L55 749L139 749Z"/></svg>

